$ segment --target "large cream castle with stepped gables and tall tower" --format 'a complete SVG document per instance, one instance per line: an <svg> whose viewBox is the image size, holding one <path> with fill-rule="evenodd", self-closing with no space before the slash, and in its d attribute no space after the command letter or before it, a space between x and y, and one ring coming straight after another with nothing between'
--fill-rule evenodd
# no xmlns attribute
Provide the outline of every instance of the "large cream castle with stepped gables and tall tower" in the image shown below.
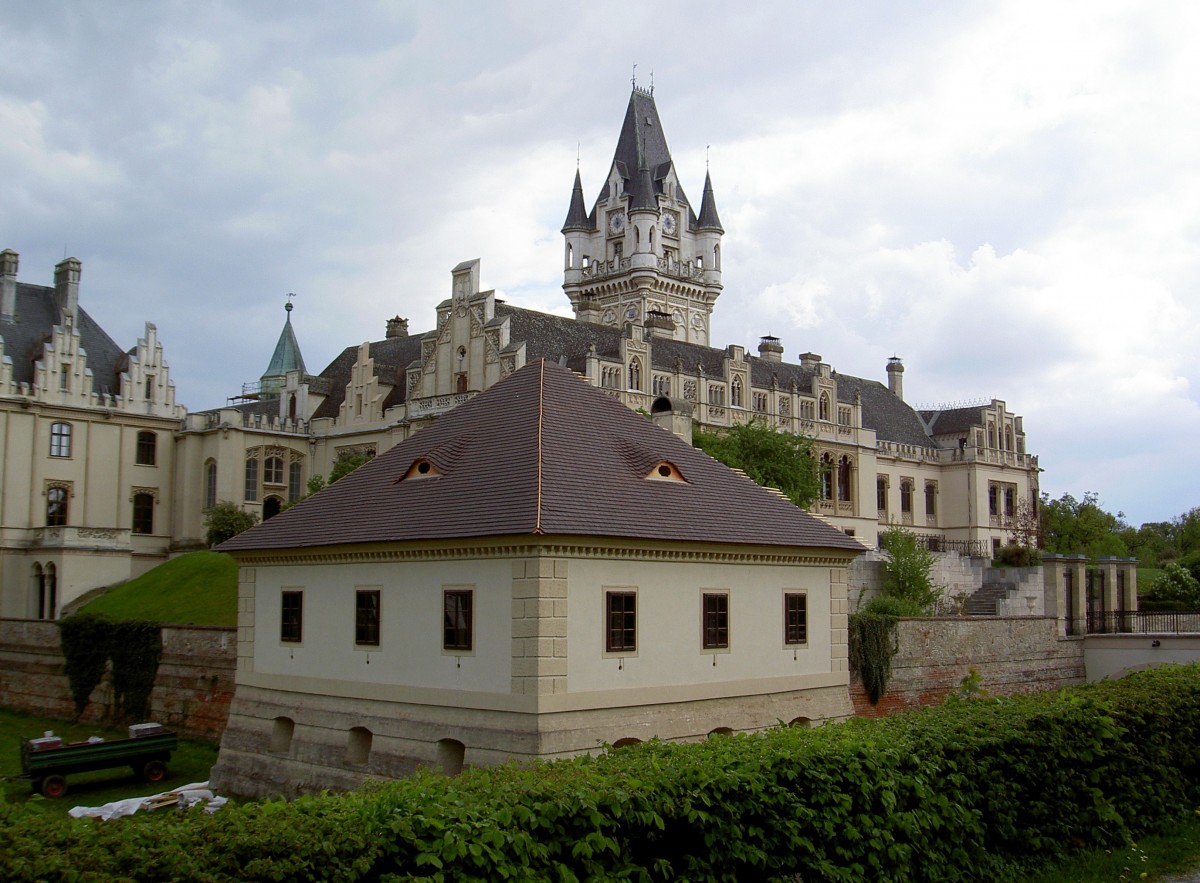
<svg viewBox="0 0 1200 883"><path fill-rule="evenodd" d="M0 615L56 618L92 588L203 547L218 500L270 518L338 459L383 452L540 359L631 409L690 412L709 430L757 419L812 438L812 510L866 546L890 523L976 554L1007 541L1038 499L1021 418L998 400L917 410L896 358L884 383L815 353L785 361L769 336L756 353L712 346L722 235L710 178L697 210L653 94L635 86L592 208L578 172L570 193L563 289L574 318L481 290L470 260L451 271L436 328L410 334L395 317L383 340L311 374L288 305L259 382L191 413L175 402L154 325L122 350L83 310L78 260L36 286L18 281L16 252L0 252Z"/></svg>

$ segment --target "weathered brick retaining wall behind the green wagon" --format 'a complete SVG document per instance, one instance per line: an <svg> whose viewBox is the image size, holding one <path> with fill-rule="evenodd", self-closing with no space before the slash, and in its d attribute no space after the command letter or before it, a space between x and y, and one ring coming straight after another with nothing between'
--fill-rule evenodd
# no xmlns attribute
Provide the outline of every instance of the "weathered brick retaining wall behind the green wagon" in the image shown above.
<svg viewBox="0 0 1200 883"><path fill-rule="evenodd" d="M235 630L163 626L162 643L150 716L190 739L220 740L233 701ZM83 720L104 722L112 695L106 677L92 692ZM0 619L0 707L62 720L74 717L54 623Z"/></svg>

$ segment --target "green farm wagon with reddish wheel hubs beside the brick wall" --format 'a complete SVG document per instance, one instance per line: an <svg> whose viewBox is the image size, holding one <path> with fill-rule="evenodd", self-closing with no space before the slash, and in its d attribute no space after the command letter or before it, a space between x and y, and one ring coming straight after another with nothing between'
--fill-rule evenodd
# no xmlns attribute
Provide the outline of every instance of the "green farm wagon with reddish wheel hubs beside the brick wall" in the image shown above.
<svg viewBox="0 0 1200 883"><path fill-rule="evenodd" d="M138 732L138 731L142 732ZM158 726L137 725L138 732L128 739L61 743L53 738L20 740L20 768L34 791L46 797L67 793L68 775L94 769L130 767L134 775L148 782L160 782L167 775L170 752L179 745L179 737ZM54 744L58 741L58 744Z"/></svg>

